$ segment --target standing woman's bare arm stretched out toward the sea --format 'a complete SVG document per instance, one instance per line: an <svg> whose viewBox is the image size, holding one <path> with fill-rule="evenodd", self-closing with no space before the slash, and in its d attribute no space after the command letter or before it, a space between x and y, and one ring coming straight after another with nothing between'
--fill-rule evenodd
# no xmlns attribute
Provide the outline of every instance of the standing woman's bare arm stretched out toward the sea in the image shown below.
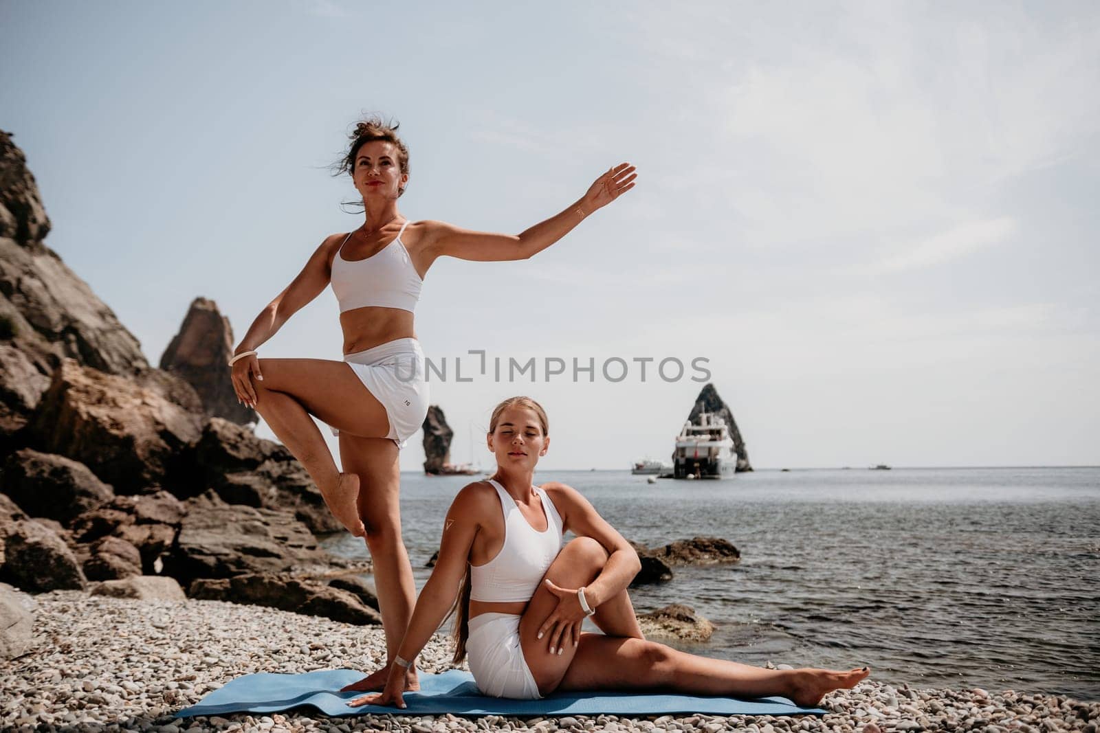
<svg viewBox="0 0 1100 733"><path fill-rule="evenodd" d="M473 232L447 222L425 222L428 224L428 248L436 257L449 255L477 262L527 259L569 234L596 209L634 188L635 178L635 167L620 163L600 176L575 203L520 234Z"/></svg>

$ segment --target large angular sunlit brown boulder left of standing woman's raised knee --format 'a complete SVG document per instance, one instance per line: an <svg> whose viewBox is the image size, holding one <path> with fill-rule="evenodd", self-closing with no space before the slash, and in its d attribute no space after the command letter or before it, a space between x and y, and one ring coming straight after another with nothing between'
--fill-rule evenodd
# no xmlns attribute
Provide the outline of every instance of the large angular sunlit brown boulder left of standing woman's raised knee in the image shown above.
<svg viewBox="0 0 1100 733"><path fill-rule="evenodd" d="M119 493L194 486L187 448L199 438L200 418L72 359L54 371L26 430L38 447L84 463Z"/></svg>

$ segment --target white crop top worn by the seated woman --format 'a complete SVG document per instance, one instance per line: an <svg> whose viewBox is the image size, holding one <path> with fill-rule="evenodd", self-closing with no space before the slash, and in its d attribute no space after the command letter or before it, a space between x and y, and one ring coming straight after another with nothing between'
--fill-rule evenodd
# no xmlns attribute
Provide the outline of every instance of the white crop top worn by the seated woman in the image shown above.
<svg viewBox="0 0 1100 733"><path fill-rule="evenodd" d="M561 549L562 522L553 501L540 487L535 490L547 515L546 532L536 532L503 486L488 479L504 510L504 545L484 565L470 566L470 599L507 603L529 601Z"/></svg>

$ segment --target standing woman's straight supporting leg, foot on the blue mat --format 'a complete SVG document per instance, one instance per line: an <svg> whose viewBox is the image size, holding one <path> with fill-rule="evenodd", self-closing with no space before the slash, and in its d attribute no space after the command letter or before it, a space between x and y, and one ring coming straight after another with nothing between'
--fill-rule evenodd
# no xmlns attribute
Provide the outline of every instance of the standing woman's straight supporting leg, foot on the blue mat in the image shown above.
<svg viewBox="0 0 1100 733"><path fill-rule="evenodd" d="M386 686L389 665L413 618L416 585L413 581L413 565L402 538L397 444L389 438L359 437L341 432L340 460L345 471L358 475L361 480L359 515L366 527L366 546L374 560L374 585L386 633L388 658L385 666L344 688L365 692ZM408 671L406 689L420 689L415 668Z"/></svg>

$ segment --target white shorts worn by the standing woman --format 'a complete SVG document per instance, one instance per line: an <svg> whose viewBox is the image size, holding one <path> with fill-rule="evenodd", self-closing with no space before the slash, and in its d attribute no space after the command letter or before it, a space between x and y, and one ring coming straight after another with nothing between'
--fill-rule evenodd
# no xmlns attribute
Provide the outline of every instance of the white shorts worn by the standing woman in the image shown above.
<svg viewBox="0 0 1100 733"><path fill-rule="evenodd" d="M386 409L389 419L386 437L404 448L424 425L428 414L428 382L420 342L396 338L362 352L344 354L343 360ZM329 430L333 435L340 434L331 425Z"/></svg>

